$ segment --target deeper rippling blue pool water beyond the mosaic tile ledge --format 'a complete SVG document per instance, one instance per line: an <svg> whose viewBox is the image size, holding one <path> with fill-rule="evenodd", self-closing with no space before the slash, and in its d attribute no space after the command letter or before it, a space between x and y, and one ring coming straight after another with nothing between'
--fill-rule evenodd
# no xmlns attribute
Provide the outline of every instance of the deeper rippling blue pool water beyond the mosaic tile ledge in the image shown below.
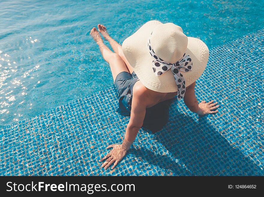
<svg viewBox="0 0 264 197"><path fill-rule="evenodd" d="M263 0L1 0L0 127L111 88L110 68L87 34L98 23L122 43L149 20L174 22L212 49L262 29L263 5Z"/></svg>

